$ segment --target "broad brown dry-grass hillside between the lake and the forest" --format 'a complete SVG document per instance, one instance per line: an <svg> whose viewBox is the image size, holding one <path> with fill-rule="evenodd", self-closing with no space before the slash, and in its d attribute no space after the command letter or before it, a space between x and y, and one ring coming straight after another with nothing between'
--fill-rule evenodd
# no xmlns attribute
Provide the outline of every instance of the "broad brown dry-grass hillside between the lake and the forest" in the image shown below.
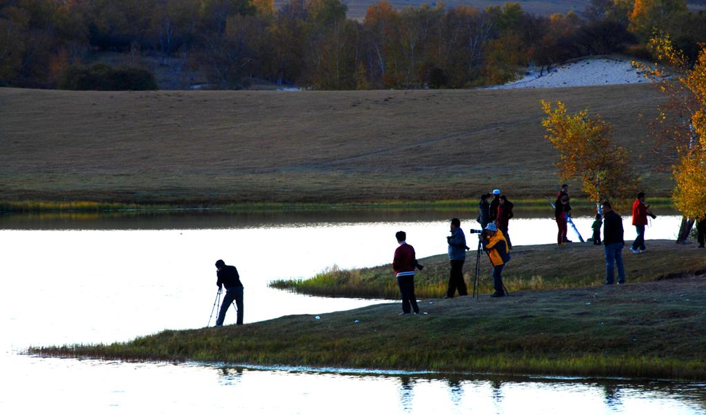
<svg viewBox="0 0 706 415"><path fill-rule="evenodd" d="M614 123L652 196L648 85L536 90L68 92L0 88L0 200L371 201L551 194L540 100ZM643 140L645 143L643 143Z"/></svg>

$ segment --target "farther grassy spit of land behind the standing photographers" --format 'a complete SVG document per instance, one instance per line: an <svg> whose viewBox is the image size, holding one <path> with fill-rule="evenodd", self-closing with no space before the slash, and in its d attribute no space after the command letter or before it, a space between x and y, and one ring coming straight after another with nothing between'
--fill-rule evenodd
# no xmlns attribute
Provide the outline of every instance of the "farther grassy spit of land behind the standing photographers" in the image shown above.
<svg viewBox="0 0 706 415"><path fill-rule="evenodd" d="M470 239L469 239L470 240ZM647 253L623 253L630 282L668 279L678 275L706 273L706 253L694 246L677 245L674 241L649 241ZM605 278L603 249L591 243L565 246L517 246L512 260L503 271L503 281L510 291L527 289L568 289L602 284ZM489 260L481 254L479 291L492 290ZM415 292L420 298L440 298L448 281L448 256L421 258L424 270L415 275ZM476 251L466 255L464 277L472 287L475 275ZM358 298L399 299L400 292L390 265L340 270L333 268L310 279L277 280L271 287L289 289L300 294Z"/></svg>

